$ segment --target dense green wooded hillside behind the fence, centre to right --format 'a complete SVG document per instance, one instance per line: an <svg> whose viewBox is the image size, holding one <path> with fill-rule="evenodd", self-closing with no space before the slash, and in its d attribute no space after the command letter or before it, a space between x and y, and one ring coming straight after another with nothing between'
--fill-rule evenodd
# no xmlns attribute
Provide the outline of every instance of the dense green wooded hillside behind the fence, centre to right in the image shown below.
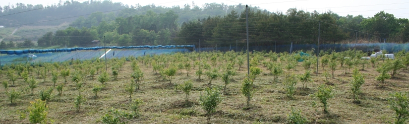
<svg viewBox="0 0 409 124"><path fill-rule="evenodd" d="M231 44L246 39L245 12L241 4L206 3L202 7L189 4L183 7L127 6L110 1L98 4L105 3L122 9L117 12L89 12L71 22L71 27L44 34L38 39L38 45L84 46L90 45L92 40L118 46L185 45L196 44L198 38L203 43ZM94 6L96 3L84 1L66 6L74 4ZM320 20L320 42L324 44L355 41L355 38L371 43L385 38L388 42L409 41L409 20L395 18L384 11L365 18L362 15L339 16L331 11L319 13L296 8L269 12L252 6L248 13L250 40L315 43Z"/></svg>

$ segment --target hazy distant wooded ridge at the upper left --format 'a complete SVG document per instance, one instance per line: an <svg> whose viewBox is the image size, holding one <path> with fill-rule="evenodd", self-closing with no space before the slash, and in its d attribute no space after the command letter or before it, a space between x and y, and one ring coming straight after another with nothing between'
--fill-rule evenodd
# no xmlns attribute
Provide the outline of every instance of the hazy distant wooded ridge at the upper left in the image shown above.
<svg viewBox="0 0 409 124"><path fill-rule="evenodd" d="M52 5L32 5L16 3L0 6L0 25L18 26L23 24L47 21L45 23L36 23L31 25L59 25L63 22L72 22L76 18L67 18L90 14L95 11L113 11L126 8L122 3L113 3L112 1L65 1ZM21 13L18 13L21 12ZM16 13L16 14L14 14ZM65 18L65 19L61 19ZM58 20L55 20L58 19Z"/></svg>

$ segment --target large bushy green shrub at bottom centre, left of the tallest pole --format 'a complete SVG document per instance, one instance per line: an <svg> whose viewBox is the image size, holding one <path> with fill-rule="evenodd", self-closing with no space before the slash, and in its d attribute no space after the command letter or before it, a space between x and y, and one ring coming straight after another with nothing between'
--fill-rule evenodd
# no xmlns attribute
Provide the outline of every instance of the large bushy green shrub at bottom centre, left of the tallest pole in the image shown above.
<svg viewBox="0 0 409 124"><path fill-rule="evenodd" d="M222 102L219 88L206 88L204 94L200 94L199 103L206 111L207 124L210 124L211 115L216 112L217 105Z"/></svg>

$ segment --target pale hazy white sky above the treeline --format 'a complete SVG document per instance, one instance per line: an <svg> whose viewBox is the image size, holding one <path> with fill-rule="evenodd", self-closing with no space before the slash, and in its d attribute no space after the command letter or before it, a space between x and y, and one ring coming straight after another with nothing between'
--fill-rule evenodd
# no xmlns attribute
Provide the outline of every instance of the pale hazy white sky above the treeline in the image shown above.
<svg viewBox="0 0 409 124"><path fill-rule="evenodd" d="M65 0L63 0L65 1ZM77 0L84 2L86 0ZM122 2L123 4L148 5L154 3L156 6L183 6L184 4L192 5L192 1L198 6L204 3L225 3L233 4L248 4L259 6L262 9L275 12L277 10L286 12L289 8L298 8L306 11L317 10L325 12L331 10L341 16L363 15L364 17L372 17L379 11L384 10L387 13L394 14L397 18L409 18L409 0L112 0L113 2ZM58 0L1 0L0 5L8 5L15 3L24 4L43 4L51 5L58 3Z"/></svg>

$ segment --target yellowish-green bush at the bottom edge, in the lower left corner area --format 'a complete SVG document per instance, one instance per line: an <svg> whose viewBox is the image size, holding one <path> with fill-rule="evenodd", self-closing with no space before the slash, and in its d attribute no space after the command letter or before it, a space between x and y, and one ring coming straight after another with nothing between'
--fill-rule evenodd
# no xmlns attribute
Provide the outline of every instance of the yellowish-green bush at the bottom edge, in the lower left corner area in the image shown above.
<svg viewBox="0 0 409 124"><path fill-rule="evenodd" d="M35 102L30 102L31 107L28 108L30 115L29 121L30 123L41 123L47 124L47 104L45 101L36 100Z"/></svg>

